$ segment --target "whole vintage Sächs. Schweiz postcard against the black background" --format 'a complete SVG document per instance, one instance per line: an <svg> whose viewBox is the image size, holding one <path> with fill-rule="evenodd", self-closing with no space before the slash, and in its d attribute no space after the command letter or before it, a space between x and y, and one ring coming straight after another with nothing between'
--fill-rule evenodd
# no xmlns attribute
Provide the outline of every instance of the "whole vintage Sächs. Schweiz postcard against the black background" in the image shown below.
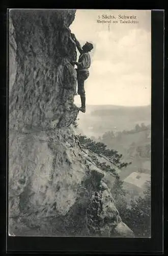
<svg viewBox="0 0 168 256"><path fill-rule="evenodd" d="M9 9L9 236L151 238L151 61L151 10Z"/></svg>

